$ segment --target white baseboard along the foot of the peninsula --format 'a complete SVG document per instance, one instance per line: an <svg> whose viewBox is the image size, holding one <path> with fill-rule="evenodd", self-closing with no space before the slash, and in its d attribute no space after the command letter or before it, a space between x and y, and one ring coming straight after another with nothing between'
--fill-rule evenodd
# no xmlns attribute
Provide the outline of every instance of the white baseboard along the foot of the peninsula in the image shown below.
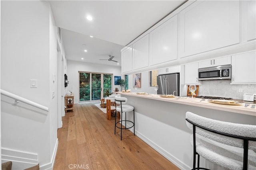
<svg viewBox="0 0 256 170"><path fill-rule="evenodd" d="M122 122L122 125L125 126L125 123ZM126 124L126 127L130 127L130 125ZM130 128L128 130L130 130L133 133L134 132L134 127ZM169 152L167 152L166 150L164 150L163 148L161 148L156 143L154 143L153 141L151 141L146 136L142 135L141 133L139 133L136 130L135 130L135 135L138 138L140 138L142 141L147 143L154 150L156 150L158 153L160 153L162 156L164 156L166 159L168 159L170 162L172 162L174 165L178 166L178 168L180 168L181 170L191 169L190 166L184 164L178 158L176 158L175 156L173 156L172 154L170 154Z"/></svg>

